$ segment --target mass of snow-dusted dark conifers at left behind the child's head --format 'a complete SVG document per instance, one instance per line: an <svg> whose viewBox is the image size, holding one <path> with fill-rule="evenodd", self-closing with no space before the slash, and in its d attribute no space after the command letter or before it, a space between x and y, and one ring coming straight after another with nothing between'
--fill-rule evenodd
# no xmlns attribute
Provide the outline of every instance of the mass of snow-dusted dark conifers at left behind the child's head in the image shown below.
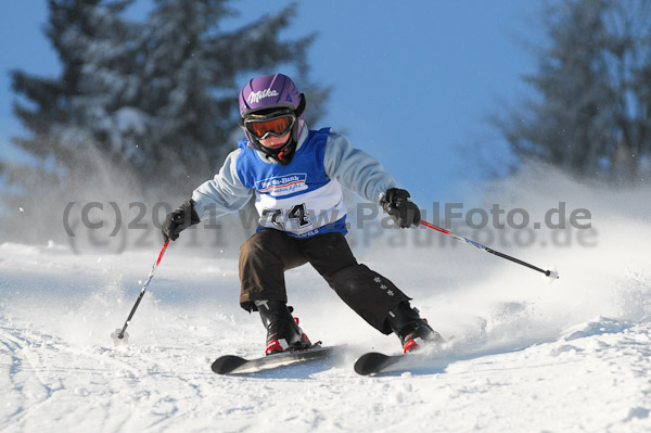
<svg viewBox="0 0 651 433"><path fill-rule="evenodd" d="M155 0L141 22L126 17L133 2L49 0L46 34L62 72L12 72L28 131L13 142L31 161L0 160L10 208L187 196L235 148L238 91L255 75L294 75L308 120L321 114L328 90L305 60L314 35L280 35L296 4L235 27L228 0Z"/></svg>

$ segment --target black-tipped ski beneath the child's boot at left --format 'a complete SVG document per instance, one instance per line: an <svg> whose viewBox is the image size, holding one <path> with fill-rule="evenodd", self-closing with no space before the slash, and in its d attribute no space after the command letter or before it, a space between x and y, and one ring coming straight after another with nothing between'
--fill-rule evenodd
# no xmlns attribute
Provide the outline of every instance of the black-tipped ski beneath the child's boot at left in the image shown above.
<svg viewBox="0 0 651 433"><path fill-rule="evenodd" d="M271 370L297 362L324 359L332 356L334 347L322 347L320 343L297 351L246 359L235 355L224 355L215 359L210 369L217 374L247 374Z"/></svg>

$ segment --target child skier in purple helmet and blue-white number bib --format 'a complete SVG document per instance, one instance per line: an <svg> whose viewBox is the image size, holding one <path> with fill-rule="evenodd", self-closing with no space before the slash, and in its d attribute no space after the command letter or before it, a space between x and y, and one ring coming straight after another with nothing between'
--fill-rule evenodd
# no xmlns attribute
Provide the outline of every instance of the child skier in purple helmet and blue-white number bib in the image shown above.
<svg viewBox="0 0 651 433"><path fill-rule="evenodd" d="M442 341L390 280L358 264L344 234L342 186L382 205L399 227L420 221L409 193L378 161L329 128L309 130L305 95L282 74L250 80L239 95L246 136L219 174L167 215L165 240L200 220L241 209L255 194L257 232L240 251L240 305L259 311L267 355L309 346L288 307L284 271L309 263L373 328L395 332L404 352Z"/></svg>

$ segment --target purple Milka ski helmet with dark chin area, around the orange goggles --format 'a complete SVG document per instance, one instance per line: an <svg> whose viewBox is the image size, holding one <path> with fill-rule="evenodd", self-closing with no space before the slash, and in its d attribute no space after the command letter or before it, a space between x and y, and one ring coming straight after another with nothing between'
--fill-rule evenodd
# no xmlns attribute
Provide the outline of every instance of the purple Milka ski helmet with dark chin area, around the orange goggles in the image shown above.
<svg viewBox="0 0 651 433"><path fill-rule="evenodd" d="M283 74L263 75L253 78L240 91L239 102L242 125L246 119L264 119L283 112L295 116L291 137L282 149L270 150L265 148L256 137L244 128L250 148L261 151L267 157L280 164L289 164L305 125L303 116L305 95L298 91L292 78Z"/></svg>

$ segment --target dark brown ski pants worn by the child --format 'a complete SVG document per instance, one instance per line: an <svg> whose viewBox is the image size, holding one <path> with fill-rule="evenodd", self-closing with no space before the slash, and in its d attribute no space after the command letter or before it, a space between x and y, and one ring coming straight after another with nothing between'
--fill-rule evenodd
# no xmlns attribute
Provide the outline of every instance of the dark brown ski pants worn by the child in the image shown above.
<svg viewBox="0 0 651 433"><path fill-rule="evenodd" d="M261 229L240 249L240 305L257 310L255 301L288 302L284 271L309 263L336 294L373 328L390 334L388 311L410 298L393 282L357 263L341 233L297 239Z"/></svg>

